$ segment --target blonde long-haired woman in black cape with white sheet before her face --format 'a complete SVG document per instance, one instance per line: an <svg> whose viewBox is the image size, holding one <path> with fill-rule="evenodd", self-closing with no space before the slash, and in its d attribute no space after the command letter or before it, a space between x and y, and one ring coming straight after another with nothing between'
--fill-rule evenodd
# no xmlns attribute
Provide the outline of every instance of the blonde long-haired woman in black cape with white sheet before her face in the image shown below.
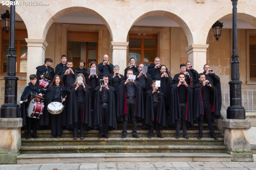
<svg viewBox="0 0 256 170"><path fill-rule="evenodd" d="M79 129L80 138L84 139L85 129L89 130L93 127L89 89L91 87L85 83L84 75L78 74L76 82L70 89L67 115L67 129L73 129L74 139L77 139Z"/></svg>

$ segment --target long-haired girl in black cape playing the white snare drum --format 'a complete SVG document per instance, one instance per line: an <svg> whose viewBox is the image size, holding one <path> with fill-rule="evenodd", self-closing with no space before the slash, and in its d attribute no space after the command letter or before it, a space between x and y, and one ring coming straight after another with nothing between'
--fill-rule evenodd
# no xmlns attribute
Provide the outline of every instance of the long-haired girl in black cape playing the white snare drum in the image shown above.
<svg viewBox="0 0 256 170"><path fill-rule="evenodd" d="M46 98L44 102L45 107L42 119L40 119L39 122L40 125L47 126L49 125L50 119L52 131L51 139L56 136L57 139L60 139L62 135L62 126L66 126L67 104L65 102L65 96L67 95L68 90L61 84L61 77L59 75L54 76L51 85L46 89L46 94L44 95Z"/></svg>

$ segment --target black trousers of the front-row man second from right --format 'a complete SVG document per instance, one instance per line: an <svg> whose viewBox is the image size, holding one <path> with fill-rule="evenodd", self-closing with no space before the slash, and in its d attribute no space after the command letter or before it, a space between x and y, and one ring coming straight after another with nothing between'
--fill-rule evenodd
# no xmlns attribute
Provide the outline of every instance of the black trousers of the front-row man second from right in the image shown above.
<svg viewBox="0 0 256 170"><path fill-rule="evenodd" d="M187 104L182 103L180 104L180 111L181 111L181 118L177 119L176 122L176 134L180 134L180 124L182 120L182 133L183 135L187 134L187 121L186 121L186 109L187 109Z"/></svg>

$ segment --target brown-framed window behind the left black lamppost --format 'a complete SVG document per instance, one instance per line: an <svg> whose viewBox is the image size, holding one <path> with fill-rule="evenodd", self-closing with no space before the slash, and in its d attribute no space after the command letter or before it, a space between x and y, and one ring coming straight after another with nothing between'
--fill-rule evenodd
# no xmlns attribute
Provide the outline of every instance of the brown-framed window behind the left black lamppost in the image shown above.
<svg viewBox="0 0 256 170"><path fill-rule="evenodd" d="M16 74L25 74L27 72L28 47L25 38L28 38L27 30L15 30L15 49L16 58ZM1 73L6 74L7 71L7 55L9 48L9 33L5 33L2 29L2 54L1 54Z"/></svg>

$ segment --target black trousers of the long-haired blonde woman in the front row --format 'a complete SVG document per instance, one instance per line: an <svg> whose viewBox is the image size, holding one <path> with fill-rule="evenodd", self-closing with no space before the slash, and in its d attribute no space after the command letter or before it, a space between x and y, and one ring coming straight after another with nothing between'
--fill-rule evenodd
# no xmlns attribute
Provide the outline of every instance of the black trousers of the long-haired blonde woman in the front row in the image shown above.
<svg viewBox="0 0 256 170"><path fill-rule="evenodd" d="M83 122L84 102L76 102L78 122L74 123L73 136L77 136L80 129L80 137L85 137L85 125Z"/></svg>

